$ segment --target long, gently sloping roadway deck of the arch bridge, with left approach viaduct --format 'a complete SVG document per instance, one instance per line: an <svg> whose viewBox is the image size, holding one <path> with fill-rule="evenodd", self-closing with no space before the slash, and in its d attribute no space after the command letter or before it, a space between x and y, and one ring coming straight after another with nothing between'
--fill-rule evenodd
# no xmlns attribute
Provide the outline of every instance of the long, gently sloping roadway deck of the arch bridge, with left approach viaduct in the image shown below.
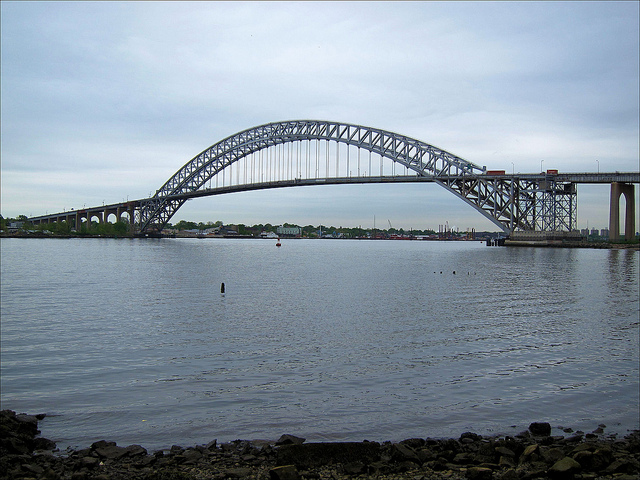
<svg viewBox="0 0 640 480"><path fill-rule="evenodd" d="M502 179L502 180L528 180L539 183L549 178L553 178L556 182L582 183L582 184L613 184L613 183L640 183L640 172L605 172L605 173L516 173L501 175L465 175L465 179L482 177L485 179ZM442 176L442 175L398 175L398 176L360 176L360 177L330 177L330 178L296 178L291 180L279 180L271 182L257 182L240 185L227 185L216 188L200 189L189 193L167 196L167 199L188 200L198 197L207 197L212 195L223 195L227 193L243 192L251 190L265 190L271 188L284 188L296 186L312 186L312 185L344 185L344 184L368 184L368 183L407 183L407 182L444 182L462 179L462 176ZM59 221L74 221L75 225L79 225L84 220L94 217L99 222L107 221L110 215L115 215L117 219L121 219L126 213L129 219L135 218L135 212L138 211L149 198L140 200L130 200L122 203L112 203L97 207L82 208L79 210L70 210L67 212L58 212L46 215L31 217L28 220L34 225L40 223L50 223Z"/></svg>

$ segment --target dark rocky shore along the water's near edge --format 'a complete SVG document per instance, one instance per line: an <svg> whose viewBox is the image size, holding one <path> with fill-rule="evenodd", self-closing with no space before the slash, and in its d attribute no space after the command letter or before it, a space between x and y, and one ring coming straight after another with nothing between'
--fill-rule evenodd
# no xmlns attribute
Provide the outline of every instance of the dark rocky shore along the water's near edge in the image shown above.
<svg viewBox="0 0 640 480"><path fill-rule="evenodd" d="M516 436L412 438L392 442L305 443L236 440L147 452L101 440L82 450L56 451L39 437L44 415L0 412L0 479L46 480L342 480L342 479L615 479L640 476L640 432L624 438L591 433L551 436L532 423Z"/></svg>

